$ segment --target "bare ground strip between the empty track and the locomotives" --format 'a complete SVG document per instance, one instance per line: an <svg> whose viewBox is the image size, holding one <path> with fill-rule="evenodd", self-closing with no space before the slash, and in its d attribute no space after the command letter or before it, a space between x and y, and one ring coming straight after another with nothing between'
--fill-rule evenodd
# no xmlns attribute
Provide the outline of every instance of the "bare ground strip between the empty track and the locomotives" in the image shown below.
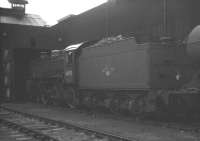
<svg viewBox="0 0 200 141"><path fill-rule="evenodd" d="M91 115L77 110L57 108L32 103L3 104L22 112L70 122L84 127L127 136L138 141L200 141L200 134L170 129L166 126L155 126L138 120L121 120L106 116Z"/></svg>

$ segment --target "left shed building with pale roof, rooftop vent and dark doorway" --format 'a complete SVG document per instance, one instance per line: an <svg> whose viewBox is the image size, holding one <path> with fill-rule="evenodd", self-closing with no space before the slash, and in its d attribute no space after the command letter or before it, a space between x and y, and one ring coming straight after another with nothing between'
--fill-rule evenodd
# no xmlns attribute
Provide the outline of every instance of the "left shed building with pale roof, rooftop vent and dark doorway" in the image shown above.
<svg viewBox="0 0 200 141"><path fill-rule="evenodd" d="M11 9L0 8L1 95L25 100L29 61L41 51L35 39L47 27L40 16L25 13L27 1L10 2Z"/></svg>

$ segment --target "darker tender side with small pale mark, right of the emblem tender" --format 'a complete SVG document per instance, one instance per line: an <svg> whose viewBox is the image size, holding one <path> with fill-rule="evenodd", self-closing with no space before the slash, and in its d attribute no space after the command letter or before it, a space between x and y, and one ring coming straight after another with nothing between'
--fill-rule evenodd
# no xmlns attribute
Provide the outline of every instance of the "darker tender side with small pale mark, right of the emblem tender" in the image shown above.
<svg viewBox="0 0 200 141"><path fill-rule="evenodd" d="M191 78L192 66L183 47L151 44L149 53L152 88L176 89Z"/></svg>

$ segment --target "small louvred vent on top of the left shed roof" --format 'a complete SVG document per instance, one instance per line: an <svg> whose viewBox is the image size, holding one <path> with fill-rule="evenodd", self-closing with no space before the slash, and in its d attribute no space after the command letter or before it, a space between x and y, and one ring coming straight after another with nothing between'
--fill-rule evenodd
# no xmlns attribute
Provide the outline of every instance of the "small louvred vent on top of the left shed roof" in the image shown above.
<svg viewBox="0 0 200 141"><path fill-rule="evenodd" d="M11 8L17 15L23 16L26 10L27 0L8 0L11 3Z"/></svg>

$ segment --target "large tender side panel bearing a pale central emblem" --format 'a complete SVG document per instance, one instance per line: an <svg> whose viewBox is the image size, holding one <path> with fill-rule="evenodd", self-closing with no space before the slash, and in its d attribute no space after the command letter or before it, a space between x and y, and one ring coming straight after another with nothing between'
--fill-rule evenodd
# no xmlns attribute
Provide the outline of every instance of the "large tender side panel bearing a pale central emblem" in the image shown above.
<svg viewBox="0 0 200 141"><path fill-rule="evenodd" d="M147 48L137 46L134 39L84 48L79 58L80 88L149 88Z"/></svg>

